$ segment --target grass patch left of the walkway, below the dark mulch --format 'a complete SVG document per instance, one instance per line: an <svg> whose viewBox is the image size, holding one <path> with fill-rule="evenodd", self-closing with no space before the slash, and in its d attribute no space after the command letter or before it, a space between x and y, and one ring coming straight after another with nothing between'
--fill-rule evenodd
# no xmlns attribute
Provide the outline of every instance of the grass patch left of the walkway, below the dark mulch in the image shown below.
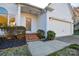
<svg viewBox="0 0 79 59"><path fill-rule="evenodd" d="M0 56L31 56L27 45L0 50Z"/></svg>

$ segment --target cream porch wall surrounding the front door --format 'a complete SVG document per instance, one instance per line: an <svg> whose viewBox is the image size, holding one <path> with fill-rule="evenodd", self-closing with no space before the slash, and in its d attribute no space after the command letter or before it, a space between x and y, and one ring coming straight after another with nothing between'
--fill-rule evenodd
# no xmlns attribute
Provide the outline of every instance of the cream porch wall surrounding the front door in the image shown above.
<svg viewBox="0 0 79 59"><path fill-rule="evenodd" d="M32 15L32 14L28 14L28 13L22 13L21 14L21 25L26 27L26 18L31 18L31 31L29 33L36 33L37 31L37 16ZM28 33L28 32L27 32Z"/></svg>

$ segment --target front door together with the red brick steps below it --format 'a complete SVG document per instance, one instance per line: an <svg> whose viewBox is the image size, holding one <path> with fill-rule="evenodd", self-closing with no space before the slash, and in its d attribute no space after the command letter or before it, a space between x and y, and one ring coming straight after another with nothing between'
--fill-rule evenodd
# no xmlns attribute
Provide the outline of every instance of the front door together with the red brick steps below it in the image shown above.
<svg viewBox="0 0 79 59"><path fill-rule="evenodd" d="M32 19L26 17L26 39L27 41L39 40L37 33L32 33Z"/></svg>

